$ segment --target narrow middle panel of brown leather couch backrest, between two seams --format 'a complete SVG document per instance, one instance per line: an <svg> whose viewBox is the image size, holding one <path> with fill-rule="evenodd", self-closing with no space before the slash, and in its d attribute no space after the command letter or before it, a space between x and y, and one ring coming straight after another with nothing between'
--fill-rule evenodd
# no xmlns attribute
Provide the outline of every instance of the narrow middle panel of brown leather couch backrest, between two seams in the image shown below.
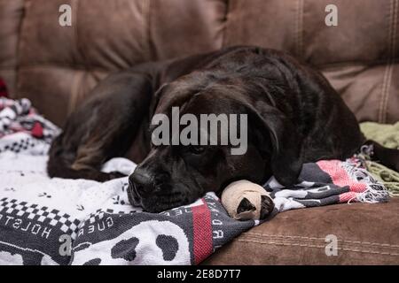
<svg viewBox="0 0 399 283"><path fill-rule="evenodd" d="M220 49L227 2L152 0L148 38L152 59L168 59Z"/></svg>

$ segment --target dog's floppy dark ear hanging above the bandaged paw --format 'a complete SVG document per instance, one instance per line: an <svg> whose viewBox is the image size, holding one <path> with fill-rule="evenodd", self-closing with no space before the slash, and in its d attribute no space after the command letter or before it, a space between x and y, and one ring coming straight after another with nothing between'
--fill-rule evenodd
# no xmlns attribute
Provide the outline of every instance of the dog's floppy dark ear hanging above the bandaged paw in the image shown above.
<svg viewBox="0 0 399 283"><path fill-rule="evenodd" d="M270 156L271 172L281 185L295 184L302 167L301 135L276 107L258 102L251 108L255 139L259 150Z"/></svg>

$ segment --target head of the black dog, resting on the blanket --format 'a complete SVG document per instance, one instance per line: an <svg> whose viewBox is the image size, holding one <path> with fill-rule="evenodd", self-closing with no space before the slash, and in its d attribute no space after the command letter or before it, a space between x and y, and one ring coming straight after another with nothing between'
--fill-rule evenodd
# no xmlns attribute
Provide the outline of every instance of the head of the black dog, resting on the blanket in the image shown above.
<svg viewBox="0 0 399 283"><path fill-rule="evenodd" d="M158 119L153 119L156 125L151 127L158 142L153 140L151 152L129 176L130 203L159 212L192 203L209 191L220 193L234 180L262 184L274 175L283 185L293 184L301 170L301 142L296 140L295 126L270 104L264 91L264 86L242 78L221 79L205 72L192 73L160 88L154 113L161 115L154 115ZM173 107L179 107L177 122ZM218 118L216 130L201 123L201 115L209 118L209 114ZM223 117L227 117L228 126L221 126ZM192 127L190 132L187 126L194 118L197 130ZM176 123L180 125L178 132L173 129ZM160 131L160 125L168 133ZM201 142L204 131L207 144ZM183 136L191 143L179 139Z"/></svg>

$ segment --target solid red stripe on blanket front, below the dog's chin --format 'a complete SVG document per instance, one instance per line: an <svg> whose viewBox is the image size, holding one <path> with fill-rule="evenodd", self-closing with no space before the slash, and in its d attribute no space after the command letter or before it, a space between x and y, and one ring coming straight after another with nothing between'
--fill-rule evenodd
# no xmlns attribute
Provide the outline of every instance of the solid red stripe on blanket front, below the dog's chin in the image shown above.
<svg viewBox="0 0 399 283"><path fill-rule="evenodd" d="M195 264L200 264L213 250L211 213L202 201L204 204L192 207Z"/></svg>

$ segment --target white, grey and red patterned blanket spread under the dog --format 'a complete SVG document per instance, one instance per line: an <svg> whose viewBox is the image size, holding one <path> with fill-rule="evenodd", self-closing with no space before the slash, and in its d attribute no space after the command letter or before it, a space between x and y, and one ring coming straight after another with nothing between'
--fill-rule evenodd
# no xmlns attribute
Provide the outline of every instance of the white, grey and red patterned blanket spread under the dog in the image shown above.
<svg viewBox="0 0 399 283"><path fill-rule="evenodd" d="M0 264L200 264L258 221L229 218L213 193L159 214L132 207L128 179L50 179L47 151L59 129L28 101L0 100ZM132 172L113 158L104 172ZM384 187L356 162L306 164L301 182L265 185L276 211L349 200L382 202Z"/></svg>

